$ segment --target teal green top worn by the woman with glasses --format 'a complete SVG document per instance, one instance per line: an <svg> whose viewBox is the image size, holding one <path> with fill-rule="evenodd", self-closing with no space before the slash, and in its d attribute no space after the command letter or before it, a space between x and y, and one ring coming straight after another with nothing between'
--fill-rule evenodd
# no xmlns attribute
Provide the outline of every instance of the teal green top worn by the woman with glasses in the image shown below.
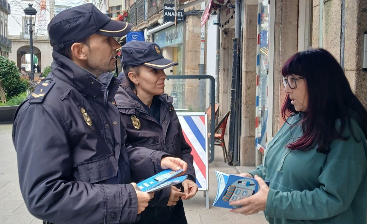
<svg viewBox="0 0 367 224"><path fill-rule="evenodd" d="M287 119L290 124L302 114ZM336 124L336 126L340 126ZM290 150L285 146L302 136L301 125L284 123L265 150L263 164L250 172L270 181L264 211L271 224L366 224L367 144L362 130L351 119L343 136L335 139L328 154L314 149Z"/></svg>

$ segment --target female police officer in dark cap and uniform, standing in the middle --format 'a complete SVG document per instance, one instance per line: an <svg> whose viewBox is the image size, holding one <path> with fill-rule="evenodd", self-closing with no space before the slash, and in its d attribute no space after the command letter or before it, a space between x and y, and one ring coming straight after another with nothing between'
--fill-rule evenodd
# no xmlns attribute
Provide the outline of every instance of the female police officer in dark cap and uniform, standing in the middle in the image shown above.
<svg viewBox="0 0 367 224"><path fill-rule="evenodd" d="M128 42L121 54L123 83L115 100L127 132L126 142L170 153L188 164L188 179L179 188L158 191L137 224L187 224L181 199L190 199L198 191L193 156L172 106L173 98L164 93L167 76L163 69L178 63L165 59L159 45L151 42Z"/></svg>

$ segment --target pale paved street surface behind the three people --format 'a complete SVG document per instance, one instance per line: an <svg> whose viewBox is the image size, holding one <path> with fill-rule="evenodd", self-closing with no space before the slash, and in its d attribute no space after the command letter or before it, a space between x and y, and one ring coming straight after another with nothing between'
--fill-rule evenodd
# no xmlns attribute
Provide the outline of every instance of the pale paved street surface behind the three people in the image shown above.
<svg viewBox="0 0 367 224"><path fill-rule="evenodd" d="M0 224L42 224L41 220L28 212L20 193L16 151L12 140L12 124L0 124L0 142ZM206 198L203 191L199 191L190 200L184 200L189 224L267 224L262 212L245 216L231 213L229 209L212 207L217 194L214 170L238 174L255 167L229 166L224 163L220 147L216 147L214 161L208 167L209 209L206 209Z"/></svg>

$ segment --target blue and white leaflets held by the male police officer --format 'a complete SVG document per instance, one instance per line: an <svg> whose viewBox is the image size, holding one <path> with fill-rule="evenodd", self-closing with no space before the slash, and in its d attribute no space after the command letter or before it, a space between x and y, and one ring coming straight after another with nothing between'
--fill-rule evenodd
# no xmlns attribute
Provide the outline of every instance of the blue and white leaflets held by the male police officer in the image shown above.
<svg viewBox="0 0 367 224"><path fill-rule="evenodd" d="M183 171L183 169L177 171L165 169L162 172L137 183L137 186L142 190L142 192L155 192L162 188L181 183L187 179L187 175L179 176L182 175Z"/></svg>

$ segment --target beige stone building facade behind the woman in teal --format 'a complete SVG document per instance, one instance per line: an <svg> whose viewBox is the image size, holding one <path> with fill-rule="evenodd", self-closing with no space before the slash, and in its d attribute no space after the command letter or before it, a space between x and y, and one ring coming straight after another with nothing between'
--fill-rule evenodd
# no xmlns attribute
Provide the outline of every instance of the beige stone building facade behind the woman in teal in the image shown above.
<svg viewBox="0 0 367 224"><path fill-rule="evenodd" d="M285 61L297 51L311 47L330 51L345 69L352 90L367 107L367 72L362 70L367 0L266 0L261 3L242 0L239 165L260 164L262 160L261 153L255 149L256 138L260 135L256 130L255 118L257 112L258 116L261 114L261 103L258 110L256 107L256 97L259 96L259 93L256 94L256 61L259 54L257 35L262 34L257 30L258 18L262 17L264 10L269 19L266 48L268 77L264 87L268 90L265 147L284 122L280 116L285 99L280 73ZM225 25L220 30L219 117L230 110L232 38L235 33L234 27ZM227 130L231 134L228 128L229 125Z"/></svg>

